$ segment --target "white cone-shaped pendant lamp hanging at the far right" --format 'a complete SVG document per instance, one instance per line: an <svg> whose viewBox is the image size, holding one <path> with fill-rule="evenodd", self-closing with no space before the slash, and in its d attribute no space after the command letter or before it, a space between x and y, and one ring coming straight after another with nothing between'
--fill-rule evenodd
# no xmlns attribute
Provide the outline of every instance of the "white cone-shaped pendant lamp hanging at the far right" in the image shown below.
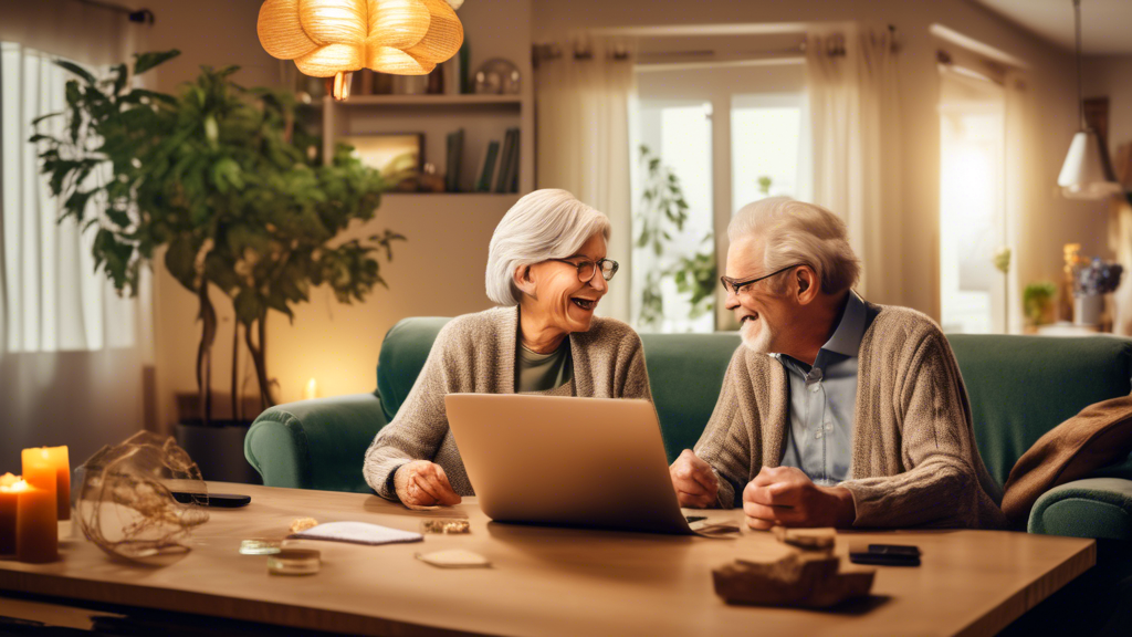
<svg viewBox="0 0 1132 637"><path fill-rule="evenodd" d="M1073 15L1077 25L1077 110L1081 129L1073 136L1062 164L1057 185L1062 195L1070 199L1100 199L1121 193L1112 164L1108 163L1108 150L1105 148L1100 135L1088 127L1084 121L1084 100L1081 95L1081 0L1073 0Z"/></svg>

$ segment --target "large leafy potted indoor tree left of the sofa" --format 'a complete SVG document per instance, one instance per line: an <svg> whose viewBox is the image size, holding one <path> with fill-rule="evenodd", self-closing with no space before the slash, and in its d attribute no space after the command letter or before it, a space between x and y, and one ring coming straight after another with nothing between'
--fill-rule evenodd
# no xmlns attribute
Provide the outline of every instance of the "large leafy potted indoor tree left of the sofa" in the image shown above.
<svg viewBox="0 0 1132 637"><path fill-rule="evenodd" d="M221 475L216 460L254 476L242 452L242 434L256 414L239 410L240 328L258 405L269 407L269 312L292 317L292 306L324 283L342 303L361 300L376 283L385 284L377 257L392 258L392 241L403 237L385 230L331 243L351 221L374 218L384 184L349 146L323 162L318 141L295 122L290 95L233 84L238 67L204 67L178 95L130 86L131 77L177 54L136 56L132 74L123 63L105 79L58 62L77 76L67 83L67 109L36 120L32 141L41 145L42 171L63 202L60 221L95 226L96 266L120 292L136 294L142 267L164 247L169 272L197 297L199 397L196 417L178 426L178 438L206 477L238 479ZM217 320L211 290L231 299L237 318L228 422L212 409ZM218 458L204 457L214 450Z"/></svg>

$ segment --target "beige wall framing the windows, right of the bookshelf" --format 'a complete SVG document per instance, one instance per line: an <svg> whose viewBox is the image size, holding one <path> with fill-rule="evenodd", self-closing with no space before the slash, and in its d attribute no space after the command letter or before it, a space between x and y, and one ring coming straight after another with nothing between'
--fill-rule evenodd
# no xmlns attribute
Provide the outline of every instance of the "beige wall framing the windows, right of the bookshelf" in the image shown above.
<svg viewBox="0 0 1132 637"><path fill-rule="evenodd" d="M1040 130L1035 139L1038 178L1029 185L1032 210L1021 223L1019 280L1057 275L1061 246L1083 244L1090 254L1105 253L1106 206L1070 202L1054 184L1075 129L1072 56L998 16L964 0L533 0L533 39L554 40L595 27L736 23L829 23L857 20L897 27L902 42L899 61L903 144L903 257L886 266L903 273L904 305L938 318L940 135L935 70L937 42L928 27L938 23L1021 58L1030 65Z"/></svg>

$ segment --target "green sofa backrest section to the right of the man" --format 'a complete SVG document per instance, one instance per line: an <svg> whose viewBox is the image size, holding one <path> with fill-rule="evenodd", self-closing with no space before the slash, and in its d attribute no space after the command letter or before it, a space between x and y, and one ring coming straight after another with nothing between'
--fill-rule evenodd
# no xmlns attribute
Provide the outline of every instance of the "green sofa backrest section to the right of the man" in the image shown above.
<svg viewBox="0 0 1132 637"><path fill-rule="evenodd" d="M950 334L979 453L1000 485L1046 432L1095 402L1132 392L1132 341Z"/></svg>

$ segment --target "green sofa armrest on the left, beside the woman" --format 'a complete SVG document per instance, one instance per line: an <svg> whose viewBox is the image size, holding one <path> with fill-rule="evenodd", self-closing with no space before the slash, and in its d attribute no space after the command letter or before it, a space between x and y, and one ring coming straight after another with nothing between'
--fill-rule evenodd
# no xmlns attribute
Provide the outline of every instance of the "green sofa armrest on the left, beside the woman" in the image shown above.
<svg viewBox="0 0 1132 637"><path fill-rule="evenodd" d="M267 486L369 493L362 461L385 424L372 393L277 405L252 423L243 455Z"/></svg>

